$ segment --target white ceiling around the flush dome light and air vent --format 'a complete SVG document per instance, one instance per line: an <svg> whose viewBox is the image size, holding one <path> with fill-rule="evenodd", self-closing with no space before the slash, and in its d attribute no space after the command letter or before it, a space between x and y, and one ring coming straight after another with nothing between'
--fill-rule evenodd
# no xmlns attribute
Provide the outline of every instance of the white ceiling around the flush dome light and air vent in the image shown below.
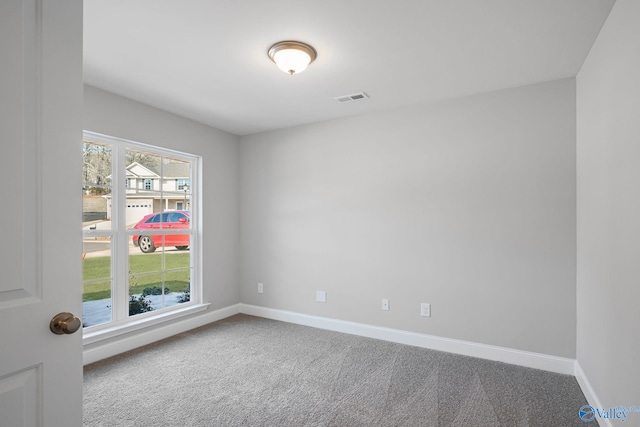
<svg viewBox="0 0 640 427"><path fill-rule="evenodd" d="M85 81L246 135L575 76L613 3L84 0ZM318 59L283 73L281 40Z"/></svg>

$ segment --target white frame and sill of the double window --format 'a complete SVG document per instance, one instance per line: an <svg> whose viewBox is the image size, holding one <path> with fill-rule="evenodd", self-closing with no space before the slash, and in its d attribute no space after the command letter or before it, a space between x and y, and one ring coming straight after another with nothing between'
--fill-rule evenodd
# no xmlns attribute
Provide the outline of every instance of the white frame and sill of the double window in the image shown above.
<svg viewBox="0 0 640 427"><path fill-rule="evenodd" d="M206 310L209 304L202 303L202 222L201 222L201 168L202 158L197 155L165 149L158 146L143 144L122 138L85 131L83 141L109 145L112 150L111 175L111 230L84 230L83 238L109 237L111 239L111 268L113 286L111 290L112 320L109 323L90 326L83 330L85 345L99 342L124 333L153 326L167 320L191 315L194 312ZM140 150L189 161L191 164L190 201L191 201L191 229L190 229L190 301L154 310L147 313L129 316L129 241L137 233L134 229L126 228L126 151ZM120 189L120 191L118 191ZM162 191L162 190L160 190ZM162 230L165 234L184 234L182 230Z"/></svg>

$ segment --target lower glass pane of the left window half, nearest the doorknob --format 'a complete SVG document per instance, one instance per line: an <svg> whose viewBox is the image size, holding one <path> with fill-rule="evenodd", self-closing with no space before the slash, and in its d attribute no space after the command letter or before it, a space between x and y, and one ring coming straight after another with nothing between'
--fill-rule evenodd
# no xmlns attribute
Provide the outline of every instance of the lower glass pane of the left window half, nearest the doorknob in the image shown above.
<svg viewBox="0 0 640 427"><path fill-rule="evenodd" d="M96 326L112 319L111 241L108 237L83 241L82 325Z"/></svg>

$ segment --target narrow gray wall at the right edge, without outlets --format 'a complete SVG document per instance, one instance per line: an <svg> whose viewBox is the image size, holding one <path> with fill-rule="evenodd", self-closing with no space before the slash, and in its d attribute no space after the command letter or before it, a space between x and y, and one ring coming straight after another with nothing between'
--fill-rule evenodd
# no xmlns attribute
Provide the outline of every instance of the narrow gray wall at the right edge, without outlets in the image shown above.
<svg viewBox="0 0 640 427"><path fill-rule="evenodd" d="M577 359L607 407L640 405L639 23L618 0L577 77Z"/></svg>

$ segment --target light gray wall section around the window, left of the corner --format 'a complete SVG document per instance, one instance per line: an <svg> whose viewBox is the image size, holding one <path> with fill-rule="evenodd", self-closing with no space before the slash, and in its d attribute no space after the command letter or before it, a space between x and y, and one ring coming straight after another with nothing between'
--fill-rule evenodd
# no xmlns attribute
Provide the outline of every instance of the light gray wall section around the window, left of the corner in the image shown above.
<svg viewBox="0 0 640 427"><path fill-rule="evenodd" d="M85 85L84 128L202 156L204 302L240 302L238 137Z"/></svg>

